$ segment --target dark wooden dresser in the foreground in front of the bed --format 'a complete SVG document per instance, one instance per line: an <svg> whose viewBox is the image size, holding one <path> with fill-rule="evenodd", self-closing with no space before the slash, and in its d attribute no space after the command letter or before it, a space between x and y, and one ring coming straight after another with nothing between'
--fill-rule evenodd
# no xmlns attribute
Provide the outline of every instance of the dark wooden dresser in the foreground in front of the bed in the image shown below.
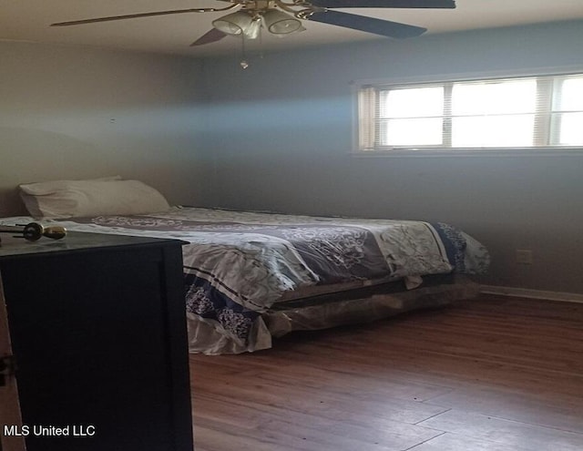
<svg viewBox="0 0 583 451"><path fill-rule="evenodd" d="M181 241L3 235L0 273L15 363L0 392L22 414L0 450L192 451Z"/></svg>

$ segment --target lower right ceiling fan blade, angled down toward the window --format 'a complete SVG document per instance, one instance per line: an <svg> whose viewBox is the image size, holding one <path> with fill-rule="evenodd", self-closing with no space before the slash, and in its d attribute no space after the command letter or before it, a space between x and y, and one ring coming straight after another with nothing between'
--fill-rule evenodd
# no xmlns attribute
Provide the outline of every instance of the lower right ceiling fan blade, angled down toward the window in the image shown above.
<svg viewBox="0 0 583 451"><path fill-rule="evenodd" d="M421 26L410 26L398 22L391 22L390 20L381 20L374 17L331 10L313 13L307 16L306 19L313 20L314 22L322 22L322 24L345 26L346 28L353 28L354 30L365 31L374 35L396 37L399 39L421 36L427 31L427 28Z"/></svg>

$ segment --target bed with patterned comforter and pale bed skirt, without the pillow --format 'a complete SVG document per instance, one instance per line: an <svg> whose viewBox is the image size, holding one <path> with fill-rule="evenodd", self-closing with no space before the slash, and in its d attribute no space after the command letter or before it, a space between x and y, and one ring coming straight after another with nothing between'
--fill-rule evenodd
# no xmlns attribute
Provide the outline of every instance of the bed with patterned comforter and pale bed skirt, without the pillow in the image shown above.
<svg viewBox="0 0 583 451"><path fill-rule="evenodd" d="M114 181L120 180L106 183ZM37 213L34 217L3 218L0 224L24 224L40 214L43 224L68 231L184 241L192 353L253 352L270 348L273 337L294 330L372 321L466 299L477 291L465 274L486 272L489 264L481 243L441 222L167 204L145 207L158 212L125 205L121 210L130 210L128 214L103 208L97 213L107 214L86 214L96 211L67 207L73 217L58 219L48 216L63 211L43 215L35 210L38 205L29 205L30 199L26 203Z"/></svg>

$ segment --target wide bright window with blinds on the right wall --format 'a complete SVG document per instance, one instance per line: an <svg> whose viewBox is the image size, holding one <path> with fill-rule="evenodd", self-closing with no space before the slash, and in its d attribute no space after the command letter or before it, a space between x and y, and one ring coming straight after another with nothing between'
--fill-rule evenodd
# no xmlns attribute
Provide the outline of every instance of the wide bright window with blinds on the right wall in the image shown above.
<svg viewBox="0 0 583 451"><path fill-rule="evenodd" d="M358 150L583 146L583 74L358 88Z"/></svg>

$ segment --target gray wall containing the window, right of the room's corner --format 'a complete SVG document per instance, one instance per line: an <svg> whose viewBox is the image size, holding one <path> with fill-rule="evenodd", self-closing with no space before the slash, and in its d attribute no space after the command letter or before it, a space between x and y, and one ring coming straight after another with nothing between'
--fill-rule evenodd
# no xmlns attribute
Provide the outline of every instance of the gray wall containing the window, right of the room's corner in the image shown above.
<svg viewBox="0 0 583 451"><path fill-rule="evenodd" d="M583 293L583 152L354 158L351 81L577 66L583 23L204 61L207 205L451 222L483 241L481 282ZM533 251L517 265L515 251Z"/></svg>

